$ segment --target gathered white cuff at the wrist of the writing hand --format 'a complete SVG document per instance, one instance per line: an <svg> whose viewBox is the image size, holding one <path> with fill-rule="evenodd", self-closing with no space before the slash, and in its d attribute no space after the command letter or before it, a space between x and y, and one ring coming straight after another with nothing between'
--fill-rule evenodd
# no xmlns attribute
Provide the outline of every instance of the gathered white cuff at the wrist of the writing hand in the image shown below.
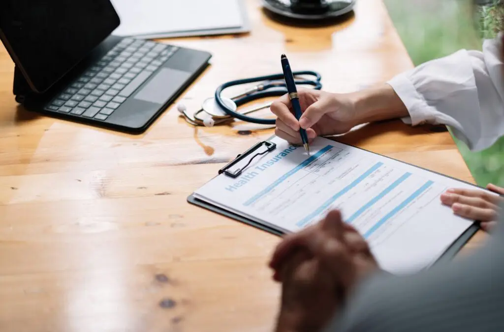
<svg viewBox="0 0 504 332"><path fill-rule="evenodd" d="M416 91L415 86L408 77L408 73L409 72L399 74L390 79L387 83L394 89L410 115L401 120L406 124L416 126L425 123L427 118L425 110L428 109L428 105Z"/></svg>

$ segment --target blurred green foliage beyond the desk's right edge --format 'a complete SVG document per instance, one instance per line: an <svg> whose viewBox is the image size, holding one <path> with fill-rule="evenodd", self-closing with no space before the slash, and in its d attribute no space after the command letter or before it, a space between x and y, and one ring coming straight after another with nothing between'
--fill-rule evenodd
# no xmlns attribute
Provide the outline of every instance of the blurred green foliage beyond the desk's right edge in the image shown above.
<svg viewBox="0 0 504 332"><path fill-rule="evenodd" d="M415 65L460 49L481 50L483 39L496 36L502 11L495 3L475 7L472 0L384 3ZM480 152L472 152L463 142L454 140L478 185L504 186L504 137Z"/></svg>

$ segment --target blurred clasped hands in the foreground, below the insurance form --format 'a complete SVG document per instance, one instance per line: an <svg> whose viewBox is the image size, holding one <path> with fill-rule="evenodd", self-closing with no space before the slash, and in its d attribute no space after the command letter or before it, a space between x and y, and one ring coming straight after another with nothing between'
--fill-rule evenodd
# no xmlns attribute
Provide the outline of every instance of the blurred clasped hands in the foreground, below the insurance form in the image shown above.
<svg viewBox="0 0 504 332"><path fill-rule="evenodd" d="M378 269L364 238L339 211L286 236L270 267L283 284L277 331L291 332L322 328L359 279Z"/></svg>

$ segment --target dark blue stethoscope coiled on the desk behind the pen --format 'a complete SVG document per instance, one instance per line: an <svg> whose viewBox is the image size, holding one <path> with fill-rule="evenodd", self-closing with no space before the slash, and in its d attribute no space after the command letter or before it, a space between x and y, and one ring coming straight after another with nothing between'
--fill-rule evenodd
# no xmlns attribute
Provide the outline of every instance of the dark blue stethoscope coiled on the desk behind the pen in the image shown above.
<svg viewBox="0 0 504 332"><path fill-rule="evenodd" d="M321 75L315 71L295 71L293 72L296 81L296 86L312 86L313 89L322 89ZM314 79L306 79L304 77L299 77L301 75L313 76ZM261 84L246 90L245 92L231 97L222 97L222 92L230 87L239 86L243 84L249 84L254 82L262 82ZM215 96L207 98L202 105L202 108L197 111L192 117L187 114L187 109L184 104L178 104L177 110L185 118L188 123L206 127L212 127L217 124L229 122L232 119L238 119L245 122L274 125L275 119L265 119L265 118L255 118L248 116L250 113L254 113L260 110L267 109L271 106L271 103L265 105L254 107L242 112L238 112L239 106L249 103L254 100L258 100L266 97L279 97L287 94L287 88L285 85L285 79L283 73L258 76L244 79L236 79L230 82L226 82L219 86L215 91Z"/></svg>

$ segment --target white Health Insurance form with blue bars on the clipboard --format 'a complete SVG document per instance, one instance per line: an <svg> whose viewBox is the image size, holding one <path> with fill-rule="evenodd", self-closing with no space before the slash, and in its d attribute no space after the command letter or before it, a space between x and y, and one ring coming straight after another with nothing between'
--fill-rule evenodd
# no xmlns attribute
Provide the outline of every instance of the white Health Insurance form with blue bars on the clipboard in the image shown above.
<svg viewBox="0 0 504 332"><path fill-rule="evenodd" d="M219 175L195 196L287 232L338 208L392 273L430 266L473 223L439 200L470 184L325 138L310 145L309 158L303 147L272 142L277 148L239 178Z"/></svg>

